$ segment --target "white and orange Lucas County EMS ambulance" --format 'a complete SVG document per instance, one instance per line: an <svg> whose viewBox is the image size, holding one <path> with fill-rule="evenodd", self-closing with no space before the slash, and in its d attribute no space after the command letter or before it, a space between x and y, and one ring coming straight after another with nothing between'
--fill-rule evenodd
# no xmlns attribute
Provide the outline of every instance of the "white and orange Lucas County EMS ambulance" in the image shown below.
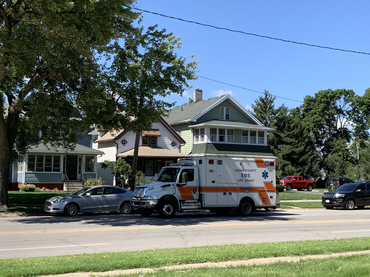
<svg viewBox="0 0 370 277"><path fill-rule="evenodd" d="M275 180L273 159L181 158L163 167L154 182L136 187L131 204L142 216L158 212L162 218L204 209L251 215L280 207Z"/></svg>

